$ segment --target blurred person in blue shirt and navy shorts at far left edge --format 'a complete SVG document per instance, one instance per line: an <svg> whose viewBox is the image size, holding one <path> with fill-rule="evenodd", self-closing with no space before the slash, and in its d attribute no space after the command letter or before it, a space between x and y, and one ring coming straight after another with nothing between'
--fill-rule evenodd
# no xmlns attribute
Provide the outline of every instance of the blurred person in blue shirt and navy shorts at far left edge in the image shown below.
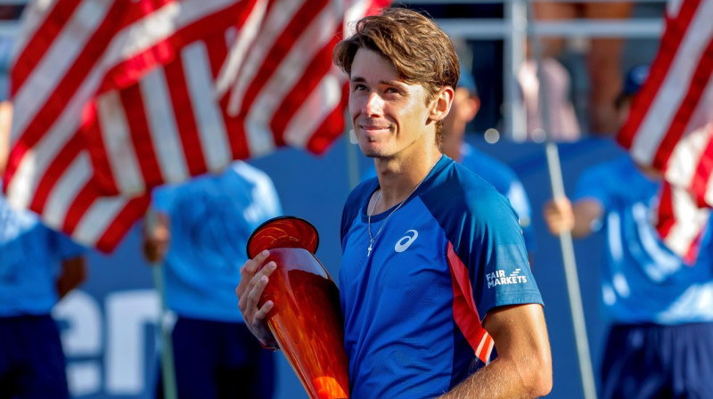
<svg viewBox="0 0 713 399"><path fill-rule="evenodd" d="M0 175L12 105L0 104ZM0 180L2 190L2 180ZM57 300L86 278L85 248L10 208L0 194L0 398L69 398Z"/></svg>

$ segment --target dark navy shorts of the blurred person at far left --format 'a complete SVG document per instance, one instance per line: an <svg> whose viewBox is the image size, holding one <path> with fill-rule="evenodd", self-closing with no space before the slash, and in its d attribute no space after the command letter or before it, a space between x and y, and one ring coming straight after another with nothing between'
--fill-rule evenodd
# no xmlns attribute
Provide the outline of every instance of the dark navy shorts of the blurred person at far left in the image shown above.
<svg viewBox="0 0 713 399"><path fill-rule="evenodd" d="M66 361L49 314L0 317L0 399L66 399Z"/></svg>

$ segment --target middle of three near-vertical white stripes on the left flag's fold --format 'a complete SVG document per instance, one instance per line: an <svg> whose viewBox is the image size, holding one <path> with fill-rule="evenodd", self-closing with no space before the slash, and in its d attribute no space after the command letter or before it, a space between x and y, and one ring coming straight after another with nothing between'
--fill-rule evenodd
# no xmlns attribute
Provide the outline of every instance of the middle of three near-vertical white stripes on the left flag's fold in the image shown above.
<svg viewBox="0 0 713 399"><path fill-rule="evenodd" d="M141 79L139 87L161 176L166 183L182 182L190 175L185 166L184 148L176 126L176 116L164 69L153 69L149 75Z"/></svg>

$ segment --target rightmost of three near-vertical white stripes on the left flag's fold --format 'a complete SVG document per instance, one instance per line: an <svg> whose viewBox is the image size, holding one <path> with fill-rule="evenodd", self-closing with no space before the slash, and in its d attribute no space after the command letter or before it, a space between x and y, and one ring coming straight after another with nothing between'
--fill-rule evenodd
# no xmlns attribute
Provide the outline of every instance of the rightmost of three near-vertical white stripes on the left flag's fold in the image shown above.
<svg viewBox="0 0 713 399"><path fill-rule="evenodd" d="M187 46L181 53L181 59L206 167L217 172L230 163L233 154L223 115L213 93L213 75L205 44L199 42Z"/></svg>

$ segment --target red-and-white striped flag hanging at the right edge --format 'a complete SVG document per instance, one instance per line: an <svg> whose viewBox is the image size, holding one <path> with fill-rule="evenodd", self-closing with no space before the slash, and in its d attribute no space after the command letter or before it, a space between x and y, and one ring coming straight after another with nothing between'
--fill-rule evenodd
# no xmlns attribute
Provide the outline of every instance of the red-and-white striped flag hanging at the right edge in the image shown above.
<svg viewBox="0 0 713 399"><path fill-rule="evenodd" d="M660 50L618 140L665 183L657 229L689 263L713 205L713 0L668 3Z"/></svg>

